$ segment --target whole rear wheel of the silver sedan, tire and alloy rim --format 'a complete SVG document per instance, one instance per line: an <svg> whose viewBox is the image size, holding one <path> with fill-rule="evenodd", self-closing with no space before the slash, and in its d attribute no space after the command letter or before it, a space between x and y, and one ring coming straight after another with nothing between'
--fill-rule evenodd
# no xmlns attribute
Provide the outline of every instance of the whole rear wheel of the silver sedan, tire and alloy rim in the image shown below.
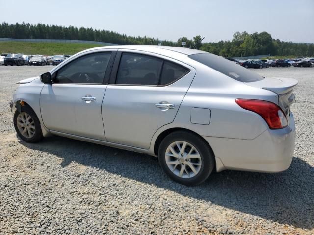
<svg viewBox="0 0 314 235"><path fill-rule="evenodd" d="M161 141L158 159L165 173L184 185L201 184L215 165L208 144L201 137L185 131L173 132Z"/></svg>

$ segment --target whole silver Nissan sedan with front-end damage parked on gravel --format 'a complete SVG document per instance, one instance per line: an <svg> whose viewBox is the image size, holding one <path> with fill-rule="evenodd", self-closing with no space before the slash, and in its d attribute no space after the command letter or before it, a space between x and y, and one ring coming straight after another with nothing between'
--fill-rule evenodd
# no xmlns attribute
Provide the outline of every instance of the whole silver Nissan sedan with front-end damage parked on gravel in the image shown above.
<svg viewBox="0 0 314 235"><path fill-rule="evenodd" d="M264 78L204 51L92 48L19 83L10 106L26 142L53 134L154 155L186 185L214 169L291 164L297 80Z"/></svg>

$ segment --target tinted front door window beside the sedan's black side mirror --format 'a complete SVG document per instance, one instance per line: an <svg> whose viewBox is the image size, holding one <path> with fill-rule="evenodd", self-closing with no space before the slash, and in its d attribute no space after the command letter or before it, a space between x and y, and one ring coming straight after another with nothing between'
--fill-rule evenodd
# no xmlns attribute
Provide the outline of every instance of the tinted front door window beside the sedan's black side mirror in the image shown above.
<svg viewBox="0 0 314 235"><path fill-rule="evenodd" d="M111 52L84 55L62 67L55 83L103 83Z"/></svg>

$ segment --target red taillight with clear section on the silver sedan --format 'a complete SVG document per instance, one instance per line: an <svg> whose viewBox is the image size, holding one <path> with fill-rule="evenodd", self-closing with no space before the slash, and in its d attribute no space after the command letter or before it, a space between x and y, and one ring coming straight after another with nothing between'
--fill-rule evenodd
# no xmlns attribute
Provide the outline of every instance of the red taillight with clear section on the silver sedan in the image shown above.
<svg viewBox="0 0 314 235"><path fill-rule="evenodd" d="M284 112L272 102L257 99L235 99L235 102L241 108L261 115L270 129L281 129L288 126Z"/></svg>

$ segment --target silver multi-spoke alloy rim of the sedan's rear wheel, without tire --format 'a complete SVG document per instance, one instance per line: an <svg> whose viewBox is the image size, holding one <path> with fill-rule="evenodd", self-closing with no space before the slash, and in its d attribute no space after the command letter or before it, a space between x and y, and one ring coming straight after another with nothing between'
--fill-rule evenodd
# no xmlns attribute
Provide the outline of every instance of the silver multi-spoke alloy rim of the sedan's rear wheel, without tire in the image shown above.
<svg viewBox="0 0 314 235"><path fill-rule="evenodd" d="M165 159L172 173L185 179L196 176L202 167L199 151L186 141L171 143L166 149Z"/></svg>

